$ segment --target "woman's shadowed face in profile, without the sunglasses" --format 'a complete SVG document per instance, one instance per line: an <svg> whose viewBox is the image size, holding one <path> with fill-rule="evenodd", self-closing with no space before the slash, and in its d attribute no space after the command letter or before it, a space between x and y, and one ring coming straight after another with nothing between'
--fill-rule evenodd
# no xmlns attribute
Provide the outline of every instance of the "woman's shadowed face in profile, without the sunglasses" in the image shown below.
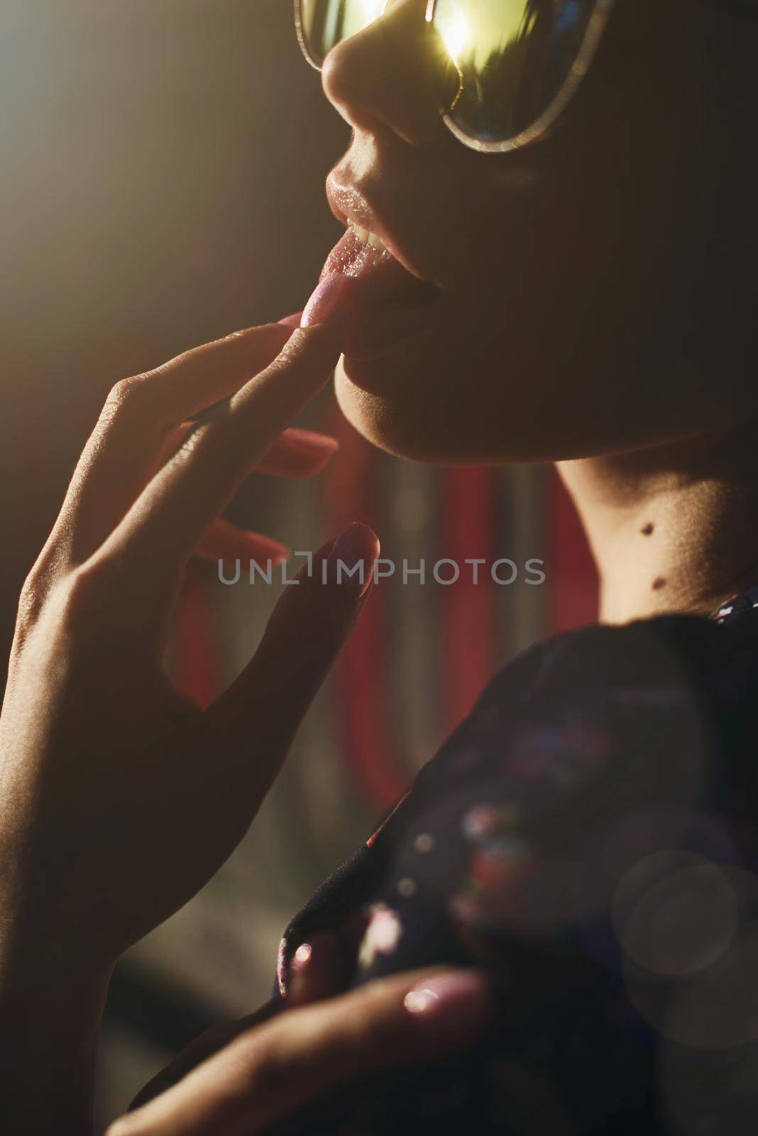
<svg viewBox="0 0 758 1136"><path fill-rule="evenodd" d="M325 267L359 285L337 393L368 438L428 461L545 460L752 409L757 25L617 0L551 134L496 156L438 114L424 0L390 0L327 56L354 131L330 203L391 254L348 233Z"/></svg>

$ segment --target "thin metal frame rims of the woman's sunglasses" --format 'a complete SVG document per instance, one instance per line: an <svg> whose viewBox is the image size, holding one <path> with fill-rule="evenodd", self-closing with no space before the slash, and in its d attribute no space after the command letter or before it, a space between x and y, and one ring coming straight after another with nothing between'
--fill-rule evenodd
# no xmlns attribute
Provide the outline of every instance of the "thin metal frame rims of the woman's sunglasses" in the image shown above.
<svg viewBox="0 0 758 1136"><path fill-rule="evenodd" d="M295 0L295 31L297 32L297 42L300 43L301 50L311 67L314 67L315 70L321 70L322 64L318 64L313 59L313 56L308 48L305 33L303 32L303 2L304 0ZM381 19L387 10L388 2L389 0L385 0L382 9L376 19ZM595 53L600 44L600 40L603 39L603 33L608 25L608 19L610 18L610 12L616 0L595 0L595 9L590 17L589 25L584 33L584 39L582 40L582 45L576 58L574 59L571 72L564 80L563 85L555 94L550 105L542 111L539 118L532 123L531 126L528 126L513 137L485 142L481 139L472 137L471 134L461 130L461 127L457 126L450 118L449 110L440 108L443 122L447 126L450 134L469 150L475 150L478 153L508 153L512 150L521 150L527 145L532 145L534 142L539 142L540 139L544 139L566 109L589 70L590 64L592 62ZM438 0L427 0L424 19L428 24L433 22L437 3ZM371 23L374 23L374 20ZM370 24L367 24L367 27L370 26Z"/></svg>

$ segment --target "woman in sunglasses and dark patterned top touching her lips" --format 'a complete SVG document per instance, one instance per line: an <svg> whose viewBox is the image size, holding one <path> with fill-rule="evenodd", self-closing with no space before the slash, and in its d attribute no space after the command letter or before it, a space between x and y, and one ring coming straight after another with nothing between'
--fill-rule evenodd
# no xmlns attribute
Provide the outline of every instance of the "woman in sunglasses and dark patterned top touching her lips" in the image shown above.
<svg viewBox="0 0 758 1136"><path fill-rule="evenodd" d="M256 465L292 469L286 427L340 352L340 404L377 444L559 462L605 626L494 679L290 925L272 1005L113 1133L755 1128L758 14L514 7L492 66L471 5L395 0L342 40L303 5L354 130L328 183L351 231L302 329L119 384L85 450L1 725L15 1133L89 1131L116 959L236 845L367 602L378 545L352 526L209 711L160 668L184 562ZM339 561L369 575L338 584Z"/></svg>

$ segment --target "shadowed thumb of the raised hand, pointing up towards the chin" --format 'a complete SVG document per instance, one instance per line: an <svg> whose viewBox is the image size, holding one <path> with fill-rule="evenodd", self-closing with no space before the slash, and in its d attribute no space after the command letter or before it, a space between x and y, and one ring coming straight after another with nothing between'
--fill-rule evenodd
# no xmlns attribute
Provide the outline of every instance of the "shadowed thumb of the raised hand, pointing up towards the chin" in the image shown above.
<svg viewBox="0 0 758 1136"><path fill-rule="evenodd" d="M255 738L263 792L355 626L378 556L376 533L359 523L319 549L285 588L251 661L209 710L211 725L246 752Z"/></svg>

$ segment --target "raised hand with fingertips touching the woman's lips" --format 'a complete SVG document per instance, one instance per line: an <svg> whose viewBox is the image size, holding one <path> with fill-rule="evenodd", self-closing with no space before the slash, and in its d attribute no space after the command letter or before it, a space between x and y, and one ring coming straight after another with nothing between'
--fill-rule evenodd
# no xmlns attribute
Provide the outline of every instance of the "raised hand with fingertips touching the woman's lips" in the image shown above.
<svg viewBox="0 0 758 1136"><path fill-rule="evenodd" d="M361 610L367 588L338 585L335 563L363 560L368 580L378 546L352 526L320 550L312 578L286 588L213 705L191 703L162 669L187 559L218 535L241 482L281 459L283 431L338 353L335 325L253 328L119 383L106 403L24 587L0 719L3 1062L20 1060L19 1029L42 1044L35 999L49 1017L61 1010L45 1025L50 1045L64 1004L70 1019L86 1003L65 1047L91 1047L113 961L236 846ZM165 461L180 424L207 407ZM36 1105L40 1071L28 1075Z"/></svg>

